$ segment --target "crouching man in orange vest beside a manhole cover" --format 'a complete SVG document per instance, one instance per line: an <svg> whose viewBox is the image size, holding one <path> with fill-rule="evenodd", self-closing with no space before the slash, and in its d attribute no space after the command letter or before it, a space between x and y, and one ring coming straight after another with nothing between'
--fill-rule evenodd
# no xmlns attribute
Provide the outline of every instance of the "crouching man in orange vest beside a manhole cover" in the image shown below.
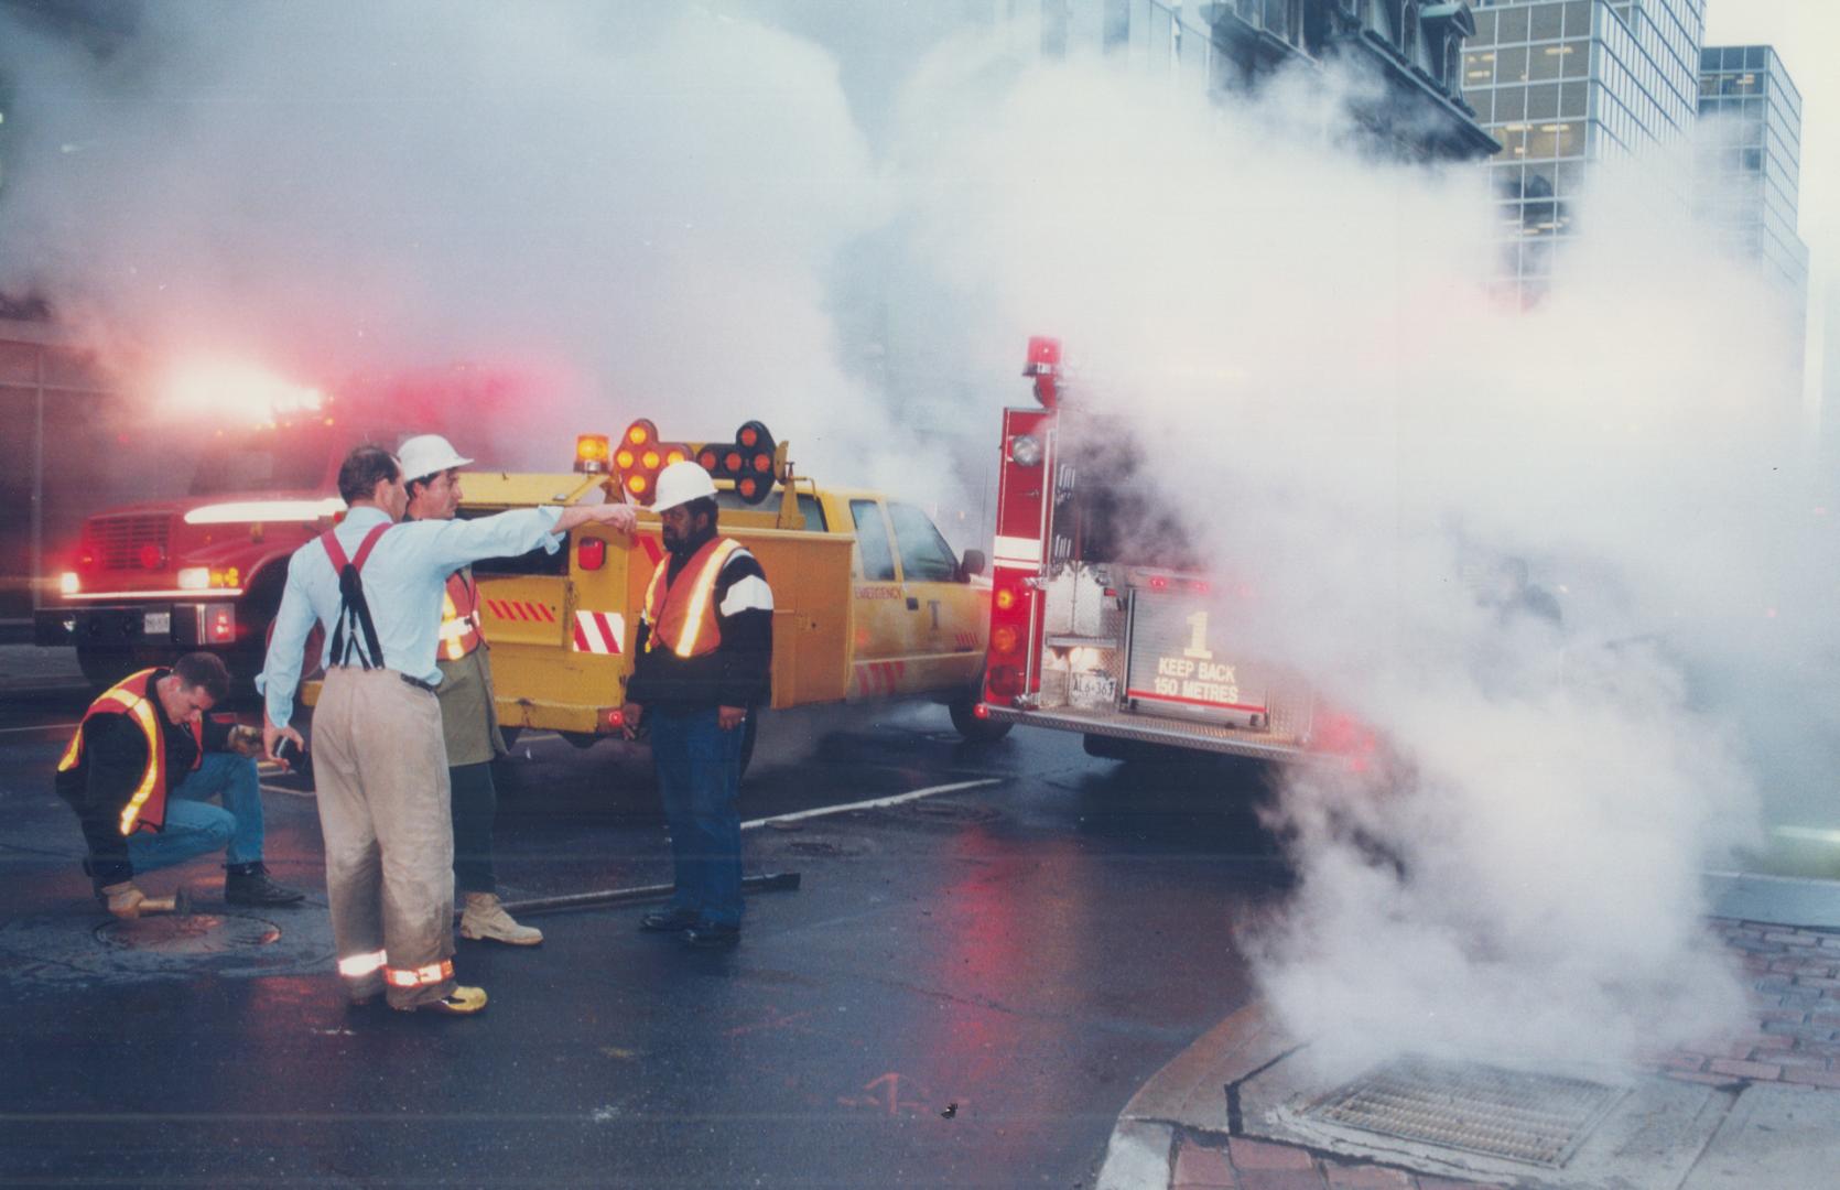
<svg viewBox="0 0 1840 1190"><path fill-rule="evenodd" d="M204 717L230 693L212 653L186 653L171 669L144 669L90 703L57 765L57 796L83 824L83 870L96 899L118 918L140 916L136 872L206 852L226 852L224 901L293 905L304 894L269 879L261 863L261 789L254 728ZM243 749L239 754L234 749ZM223 807L208 798L221 796Z"/></svg>

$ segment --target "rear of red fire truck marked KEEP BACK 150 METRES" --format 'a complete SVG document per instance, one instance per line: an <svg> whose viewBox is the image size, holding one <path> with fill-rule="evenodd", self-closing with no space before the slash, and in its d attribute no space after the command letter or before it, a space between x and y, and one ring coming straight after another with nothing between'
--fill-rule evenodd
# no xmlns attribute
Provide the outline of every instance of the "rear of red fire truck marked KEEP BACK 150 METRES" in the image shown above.
<svg viewBox="0 0 1840 1190"><path fill-rule="evenodd" d="M1137 495L1130 429L1082 403L1060 340L1030 338L1023 375L1036 406L1003 412L975 714L1080 732L1111 760L1178 749L1349 763L1371 750L1363 728L1236 635L1218 568Z"/></svg>

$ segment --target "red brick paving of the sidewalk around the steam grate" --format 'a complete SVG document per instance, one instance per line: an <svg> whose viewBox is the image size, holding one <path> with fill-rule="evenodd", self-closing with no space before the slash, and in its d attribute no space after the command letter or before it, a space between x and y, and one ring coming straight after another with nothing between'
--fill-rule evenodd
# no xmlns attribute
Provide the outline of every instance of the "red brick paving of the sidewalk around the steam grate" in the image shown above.
<svg viewBox="0 0 1840 1190"><path fill-rule="evenodd" d="M1840 933L1715 920L1754 977L1757 1030L1645 1058L1649 1072L1737 1087L1840 1087ZM1498 1190L1248 1137L1176 1133L1170 1190Z"/></svg>

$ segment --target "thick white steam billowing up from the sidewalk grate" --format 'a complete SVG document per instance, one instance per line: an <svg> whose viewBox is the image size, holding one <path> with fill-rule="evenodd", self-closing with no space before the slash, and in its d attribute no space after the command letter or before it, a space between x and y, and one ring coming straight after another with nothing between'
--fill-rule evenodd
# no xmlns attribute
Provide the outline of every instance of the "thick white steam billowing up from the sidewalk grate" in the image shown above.
<svg viewBox="0 0 1840 1190"><path fill-rule="evenodd" d="M1397 750L1275 809L1301 888L1255 945L1284 1019L1349 1067L1742 1024L1698 874L1752 841L1742 708L1781 721L1833 655L1776 296L1630 173L1575 208L1551 300L1492 298L1479 171L1325 143L1297 79L1207 110L1100 64L933 70L903 193L990 327L972 355L1062 335L1240 592L1214 647ZM1490 587L1516 557L1562 625Z"/></svg>

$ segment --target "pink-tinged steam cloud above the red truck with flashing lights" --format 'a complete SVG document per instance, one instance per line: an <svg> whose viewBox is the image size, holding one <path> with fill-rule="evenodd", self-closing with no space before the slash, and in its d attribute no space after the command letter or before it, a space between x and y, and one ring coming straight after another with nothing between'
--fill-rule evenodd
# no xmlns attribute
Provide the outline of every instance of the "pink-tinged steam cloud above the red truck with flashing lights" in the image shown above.
<svg viewBox="0 0 1840 1190"><path fill-rule="evenodd" d="M826 309L883 199L806 39L679 6L335 2L149 4L101 59L0 46L0 283L131 379L530 370L558 392L493 445L532 465L635 416L776 410L815 475L885 438Z"/></svg>

